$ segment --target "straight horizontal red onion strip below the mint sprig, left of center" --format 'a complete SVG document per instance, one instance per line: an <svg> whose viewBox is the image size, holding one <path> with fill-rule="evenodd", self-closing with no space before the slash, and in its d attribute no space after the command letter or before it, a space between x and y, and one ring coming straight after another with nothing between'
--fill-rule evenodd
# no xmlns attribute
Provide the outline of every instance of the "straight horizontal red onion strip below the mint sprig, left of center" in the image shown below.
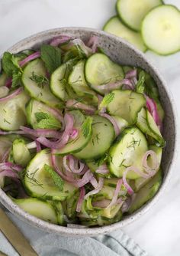
<svg viewBox="0 0 180 256"><path fill-rule="evenodd" d="M20 126L20 129L24 132L24 134L30 134L35 137L44 136L59 139L59 137L62 136L62 133L59 133L53 129L31 129L25 126Z"/></svg>

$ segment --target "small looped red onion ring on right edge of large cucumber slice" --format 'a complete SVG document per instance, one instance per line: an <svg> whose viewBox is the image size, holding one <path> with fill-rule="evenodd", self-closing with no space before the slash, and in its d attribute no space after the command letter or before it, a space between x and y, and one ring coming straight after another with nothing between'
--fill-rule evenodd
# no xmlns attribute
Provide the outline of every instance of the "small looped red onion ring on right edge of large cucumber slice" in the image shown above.
<svg viewBox="0 0 180 256"><path fill-rule="evenodd" d="M152 167L148 166L147 159L149 156L151 156L151 158L153 160ZM145 168L146 172L148 172L148 174L147 174L148 178L149 178L149 176L155 175L156 171L159 169L159 161L158 161L156 153L153 150L146 151L146 153L143 156L142 162L143 162L143 167Z"/></svg>

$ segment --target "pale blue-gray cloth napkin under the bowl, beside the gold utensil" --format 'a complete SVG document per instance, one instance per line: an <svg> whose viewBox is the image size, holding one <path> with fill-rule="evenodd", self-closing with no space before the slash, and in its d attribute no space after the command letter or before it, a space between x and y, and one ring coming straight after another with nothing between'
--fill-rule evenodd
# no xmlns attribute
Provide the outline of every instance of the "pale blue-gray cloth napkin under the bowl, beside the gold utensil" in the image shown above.
<svg viewBox="0 0 180 256"><path fill-rule="evenodd" d="M114 231L108 235L98 235L94 238L66 238L49 234L22 222L7 213L8 217L30 241L32 247L40 256L147 256L133 239L123 231ZM1 221L1 220L0 220ZM8 256L18 256L5 236L0 232L0 251ZM26 255L28 256L28 255Z"/></svg>

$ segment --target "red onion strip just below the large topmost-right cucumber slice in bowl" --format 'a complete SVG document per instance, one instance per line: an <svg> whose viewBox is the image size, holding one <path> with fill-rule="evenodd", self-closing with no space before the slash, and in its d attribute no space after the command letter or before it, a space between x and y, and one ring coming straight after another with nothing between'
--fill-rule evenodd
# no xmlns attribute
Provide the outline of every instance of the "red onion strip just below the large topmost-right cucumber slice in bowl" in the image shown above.
<svg viewBox="0 0 180 256"><path fill-rule="evenodd" d="M126 79L126 78L123 79L123 80L119 80L117 82L114 82L114 83L96 85L95 87L98 90L104 90L104 91L108 92L109 90L119 89L122 85L127 85L131 88L131 90L133 89L133 85L132 85L131 81L129 79Z"/></svg>

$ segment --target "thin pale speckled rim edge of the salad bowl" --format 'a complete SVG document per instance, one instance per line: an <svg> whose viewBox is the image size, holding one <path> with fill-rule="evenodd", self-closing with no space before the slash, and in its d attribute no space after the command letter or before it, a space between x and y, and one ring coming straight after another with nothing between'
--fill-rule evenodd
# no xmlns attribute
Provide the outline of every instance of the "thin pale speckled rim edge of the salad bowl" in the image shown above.
<svg viewBox="0 0 180 256"><path fill-rule="evenodd" d="M63 32L63 31L65 31L65 32ZM33 226L36 226L37 228L40 228L43 231L53 232L53 233L56 233L59 235L65 235L65 236L76 235L76 236L81 237L81 236L101 235L104 233L115 231L118 228L122 228L125 225L130 224L130 222L135 221L137 218L140 218L141 215L146 213L149 210L149 208L151 208L153 205L156 204L160 195L162 195L162 192L164 192L164 190L166 189L166 186L168 185L170 176L172 174L172 167L175 165L175 159L177 158L177 155L178 155L178 152L177 152L178 140L177 140L177 134L176 134L178 122L177 122L177 118L175 116L175 113L177 113L177 111L175 110L175 102L173 100L172 93L170 92L169 87L167 86L165 80L162 78L162 75L159 74L159 71L154 66L154 64L152 64L151 61L147 60L145 54L143 54L137 48L134 48L132 44L129 44L123 38L119 38L113 34L108 34L107 32L104 32L104 31L101 31L101 30L98 30L95 28L84 28L84 27L52 28L52 29L48 29L48 30L33 34L27 38L22 39L21 41L18 41L18 43L11 46L11 48L8 48L7 51L13 52L14 48L18 48L21 44L24 44L24 42L27 43L27 42L30 42L33 40L36 41L36 38L40 38L41 36L43 37L44 35L55 34L56 32L59 32L59 33L63 32L64 34L68 34L68 33L70 34L72 31L82 31L82 32L87 31L92 34L94 33L94 34L102 35L102 36L108 38L108 40L114 39L114 41L119 41L122 44L125 44L128 48L130 48L130 50L132 50L134 52L134 54L137 54L138 56L140 56L143 59L143 61L146 62L146 64L149 66L149 68L153 71L153 73L156 74L156 76L159 78L159 80L162 83L162 87L166 90L166 94L168 95L169 101L171 102L171 105L172 105L171 107L172 107L174 129L175 129L174 152L172 154L171 162L169 163L169 171L166 175L166 179L163 180L162 185L159 188L159 191L156 193L156 195L153 197L153 199L151 199L149 202L146 203L146 205L143 205L143 207L138 209L137 212L134 212L132 215L125 217L120 222L116 222L111 225L104 225L102 227L96 227L96 228L69 228L69 227L51 224L49 222L45 222L45 221L41 220L40 218L35 217L34 215L30 215L27 212L24 212L24 210L19 208L18 205L16 205L13 201L11 201L11 199L8 197L8 195L6 195L5 192L3 192L2 189L0 189L0 202L2 203L2 205L4 205L5 208L7 208L10 212L12 212L18 218L21 218L22 220L24 220L24 222L27 222ZM52 38L53 38L53 36L52 36ZM2 58L2 56L0 58Z"/></svg>

